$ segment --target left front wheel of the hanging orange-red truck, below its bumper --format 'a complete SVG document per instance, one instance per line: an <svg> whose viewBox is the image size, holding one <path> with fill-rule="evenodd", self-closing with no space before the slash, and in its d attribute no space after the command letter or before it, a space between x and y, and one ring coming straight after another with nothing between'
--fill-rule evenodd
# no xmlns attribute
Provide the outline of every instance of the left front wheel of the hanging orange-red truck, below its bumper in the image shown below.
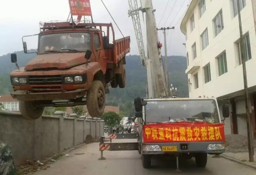
<svg viewBox="0 0 256 175"><path fill-rule="evenodd" d="M19 101L20 113L25 119L35 120L42 116L44 107L36 106L34 101Z"/></svg>

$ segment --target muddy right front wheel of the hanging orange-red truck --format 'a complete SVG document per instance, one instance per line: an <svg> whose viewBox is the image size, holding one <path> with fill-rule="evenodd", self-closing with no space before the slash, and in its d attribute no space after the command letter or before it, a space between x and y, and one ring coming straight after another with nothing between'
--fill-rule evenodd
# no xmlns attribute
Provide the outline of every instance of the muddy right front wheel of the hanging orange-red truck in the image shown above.
<svg viewBox="0 0 256 175"><path fill-rule="evenodd" d="M106 93L104 85L100 80L92 82L86 95L86 105L91 117L100 118L104 112L106 104Z"/></svg>

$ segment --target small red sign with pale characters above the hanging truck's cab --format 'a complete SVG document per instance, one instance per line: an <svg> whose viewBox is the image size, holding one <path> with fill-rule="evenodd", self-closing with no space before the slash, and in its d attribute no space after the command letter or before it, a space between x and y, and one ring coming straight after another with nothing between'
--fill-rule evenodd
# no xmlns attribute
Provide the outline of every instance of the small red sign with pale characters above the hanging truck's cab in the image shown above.
<svg viewBox="0 0 256 175"><path fill-rule="evenodd" d="M68 0L71 15L92 16L90 0Z"/></svg>

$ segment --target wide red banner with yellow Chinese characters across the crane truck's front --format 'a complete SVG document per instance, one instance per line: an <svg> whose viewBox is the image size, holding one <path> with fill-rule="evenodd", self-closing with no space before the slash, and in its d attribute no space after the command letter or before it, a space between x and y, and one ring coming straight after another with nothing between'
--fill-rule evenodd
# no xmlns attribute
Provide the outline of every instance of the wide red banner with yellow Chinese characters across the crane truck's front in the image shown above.
<svg viewBox="0 0 256 175"><path fill-rule="evenodd" d="M145 143L226 141L222 123L156 123L142 132Z"/></svg>

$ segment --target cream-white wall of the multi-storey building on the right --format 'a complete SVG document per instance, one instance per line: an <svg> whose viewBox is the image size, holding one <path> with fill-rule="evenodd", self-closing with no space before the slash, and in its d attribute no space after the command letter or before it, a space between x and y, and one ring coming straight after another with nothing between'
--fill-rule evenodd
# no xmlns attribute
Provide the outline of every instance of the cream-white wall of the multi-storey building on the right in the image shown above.
<svg viewBox="0 0 256 175"><path fill-rule="evenodd" d="M192 0L191 4L195 4L199 0ZM191 5L190 4L190 5ZM191 7L190 7L191 8ZM186 33L186 49L188 52L189 66L186 72L189 72L190 79L190 97L198 97L199 95L220 97L232 92L239 91L244 88L242 65L238 65L237 48L234 44L239 39L238 15L233 17L233 9L231 0L206 0L206 11L199 17L198 5L192 9L195 19L195 28L190 32L190 20L184 21L190 17L192 13L187 10L181 29ZM224 29L214 36L214 25L212 20L222 10ZM189 18L188 18L189 19ZM248 87L256 85L254 77L256 65L256 35L254 28L254 16L252 12L252 1L246 0L246 6L241 10L242 30L250 36L250 47L252 59L246 62ZM184 30L184 28L187 29ZM205 29L208 29L208 46L202 50L202 41L200 35ZM196 42L197 57L192 59L192 45ZM216 58L222 52L226 52L227 70L228 72L218 76L218 63ZM210 63L211 81L204 82L204 66ZM198 66L198 67L197 67ZM194 68L193 68L194 67ZM191 68L193 68L191 70ZM190 71L189 71L190 70ZM199 87L194 88L193 75L198 73Z"/></svg>

